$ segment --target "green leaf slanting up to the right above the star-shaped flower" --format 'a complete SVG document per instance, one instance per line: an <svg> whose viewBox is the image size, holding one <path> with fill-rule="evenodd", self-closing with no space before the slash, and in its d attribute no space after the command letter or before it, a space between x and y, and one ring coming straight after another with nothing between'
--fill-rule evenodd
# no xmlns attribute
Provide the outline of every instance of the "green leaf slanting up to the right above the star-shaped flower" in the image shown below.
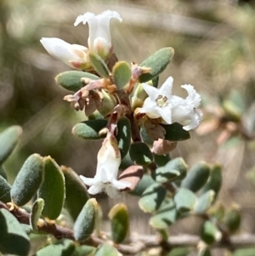
<svg viewBox="0 0 255 256"><path fill-rule="evenodd" d="M173 59L174 50L173 48L161 48L156 51L155 54L150 57L139 66L150 67L151 71L147 74L139 76L139 82L148 82L154 77L157 77L162 71L164 71L170 61Z"/></svg>

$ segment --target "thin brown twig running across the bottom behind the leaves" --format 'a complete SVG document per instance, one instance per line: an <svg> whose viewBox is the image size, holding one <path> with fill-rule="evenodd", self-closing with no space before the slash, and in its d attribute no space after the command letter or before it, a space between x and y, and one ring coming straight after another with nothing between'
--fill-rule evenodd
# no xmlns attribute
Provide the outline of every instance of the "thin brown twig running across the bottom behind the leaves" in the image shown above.
<svg viewBox="0 0 255 256"><path fill-rule="evenodd" d="M14 214L14 216L20 221L22 224L29 225L30 213L26 213L25 210L21 208L14 208L14 210L10 211L10 206L7 204L0 202L0 208L4 208L8 210L10 213ZM44 221L44 225L38 226L39 231L46 232L50 235L55 236L57 239L68 238L71 240L75 240L73 235L73 230L65 228L60 225L48 223L46 220ZM196 247L197 244L201 241L199 236L192 235L180 235L180 236L169 236L166 244L168 247ZM90 236L88 240L82 242L82 244L91 245L97 247L99 244L107 242L105 239L101 239L97 236ZM108 241L109 242L109 241ZM120 253L125 254L136 254L143 251L145 248L150 247L160 247L162 239L160 236L143 236L143 235L133 235L130 237L128 244L118 244L115 247L118 249ZM221 247L221 248L239 248L239 247L250 247L255 244L255 235L253 234L242 234L238 236L230 236L229 242L225 242L224 240L216 242L213 244L213 247Z"/></svg>

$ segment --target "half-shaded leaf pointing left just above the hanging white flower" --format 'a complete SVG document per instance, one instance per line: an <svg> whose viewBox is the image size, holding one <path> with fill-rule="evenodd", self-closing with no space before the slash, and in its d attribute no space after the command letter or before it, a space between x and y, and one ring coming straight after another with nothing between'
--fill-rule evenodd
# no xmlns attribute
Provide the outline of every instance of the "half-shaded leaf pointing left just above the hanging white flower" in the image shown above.
<svg viewBox="0 0 255 256"><path fill-rule="evenodd" d="M99 135L99 131L105 128L106 125L107 120L103 119L79 122L72 128L71 133L82 139L102 139L105 138L105 134Z"/></svg>

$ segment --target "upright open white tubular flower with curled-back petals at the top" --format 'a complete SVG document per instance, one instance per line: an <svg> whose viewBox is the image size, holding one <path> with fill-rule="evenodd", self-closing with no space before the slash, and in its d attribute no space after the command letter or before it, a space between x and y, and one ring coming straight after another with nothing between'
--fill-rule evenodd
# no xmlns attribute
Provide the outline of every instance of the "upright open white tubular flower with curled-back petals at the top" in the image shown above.
<svg viewBox="0 0 255 256"><path fill-rule="evenodd" d="M77 17L74 26L81 22L85 25L88 22L89 37L88 48L93 54L98 54L105 59L112 54L110 20L115 18L122 22L120 14L107 10L99 15L85 13Z"/></svg>

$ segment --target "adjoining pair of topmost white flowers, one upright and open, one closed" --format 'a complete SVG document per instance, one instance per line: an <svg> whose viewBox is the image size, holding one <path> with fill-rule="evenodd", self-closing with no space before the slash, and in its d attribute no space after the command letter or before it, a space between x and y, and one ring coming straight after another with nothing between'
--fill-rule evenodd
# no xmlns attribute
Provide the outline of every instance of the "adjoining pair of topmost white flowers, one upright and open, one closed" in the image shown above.
<svg viewBox="0 0 255 256"><path fill-rule="evenodd" d="M77 17L74 26L81 22L84 25L88 23L88 48L79 44L66 43L64 40L56 37L42 37L41 43L48 51L48 54L62 60L66 65L80 70L89 70L91 65L88 52L98 54L102 59L106 59L112 54L111 18L122 22L120 14L111 10L107 10L99 15L85 13Z"/></svg>

